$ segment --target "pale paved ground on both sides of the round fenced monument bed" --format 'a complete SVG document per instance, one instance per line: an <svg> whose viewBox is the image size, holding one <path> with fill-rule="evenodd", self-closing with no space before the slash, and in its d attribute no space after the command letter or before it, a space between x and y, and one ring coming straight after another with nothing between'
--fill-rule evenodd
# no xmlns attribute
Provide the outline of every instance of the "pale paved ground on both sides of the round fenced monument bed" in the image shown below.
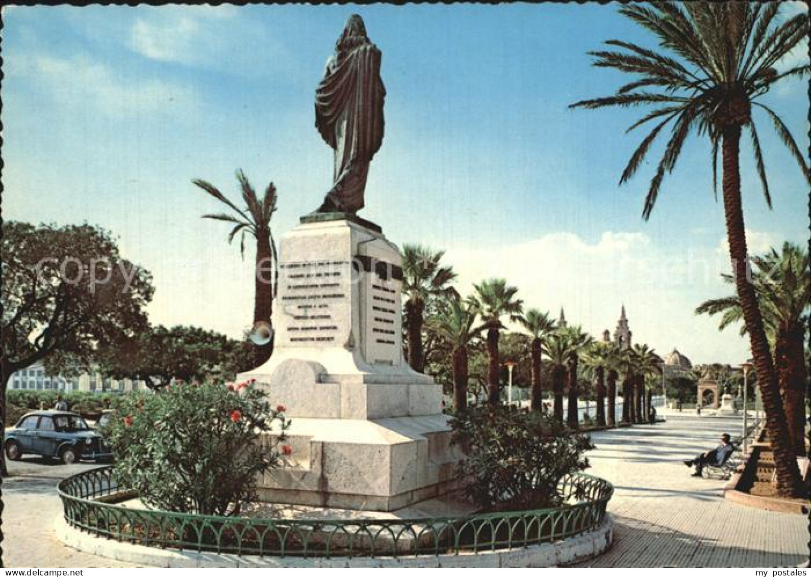
<svg viewBox="0 0 811 577"><path fill-rule="evenodd" d="M668 422L595 433L589 470L616 487L609 504L614 546L584 566L797 566L808 558L801 515L724 501L724 481L689 476L684 459L738 432L738 420L668 416ZM2 485L6 566L104 567L119 562L79 553L54 536L61 511L56 484L90 465L10 463Z"/></svg>

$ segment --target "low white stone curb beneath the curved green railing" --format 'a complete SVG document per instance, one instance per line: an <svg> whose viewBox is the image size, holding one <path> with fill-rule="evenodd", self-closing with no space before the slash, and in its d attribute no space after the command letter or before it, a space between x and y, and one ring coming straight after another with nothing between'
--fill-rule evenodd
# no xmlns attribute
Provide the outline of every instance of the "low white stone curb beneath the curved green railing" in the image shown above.
<svg viewBox="0 0 811 577"><path fill-rule="evenodd" d="M158 567L552 567L571 565L603 553L611 547L613 536L611 515L606 514L603 523L593 531L524 549L398 558L300 558L240 557L131 545L80 531L65 523L62 515L56 519L54 529L58 539L73 549L138 566Z"/></svg>

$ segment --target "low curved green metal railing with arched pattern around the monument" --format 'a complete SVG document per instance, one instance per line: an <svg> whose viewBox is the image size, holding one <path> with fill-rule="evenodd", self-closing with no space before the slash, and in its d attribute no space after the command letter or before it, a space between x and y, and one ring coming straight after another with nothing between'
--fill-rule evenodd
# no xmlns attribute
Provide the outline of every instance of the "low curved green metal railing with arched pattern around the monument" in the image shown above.
<svg viewBox="0 0 811 577"><path fill-rule="evenodd" d="M554 508L430 519L258 519L188 515L114 504L130 493L113 467L62 480L65 521L97 536L152 547L277 557L402 557L481 553L548 543L603 523L614 488L577 473Z"/></svg>

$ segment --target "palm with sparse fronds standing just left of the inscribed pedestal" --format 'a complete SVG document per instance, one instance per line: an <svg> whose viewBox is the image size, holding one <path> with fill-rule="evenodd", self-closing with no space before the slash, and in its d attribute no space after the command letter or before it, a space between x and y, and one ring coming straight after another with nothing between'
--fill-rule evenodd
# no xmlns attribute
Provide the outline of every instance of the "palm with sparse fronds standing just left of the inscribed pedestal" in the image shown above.
<svg viewBox="0 0 811 577"><path fill-rule="evenodd" d="M194 179L191 182L202 188L209 195L219 200L227 206L230 214L205 214L204 218L229 222L234 225L228 235L228 242L234 240L236 235L240 235L239 252L242 258L245 257L245 235L251 235L256 239L256 265L254 270L254 324L260 321L271 323L273 313L273 297L276 296L278 284L278 261L276 252L276 241L270 221L273 213L276 212L277 194L276 187L269 183L264 190L262 200L256 196L256 191L242 169L237 170L237 180L242 192L242 201L245 203L244 209L239 209L222 192L217 190L211 183L201 179ZM273 273L270 278L264 274L266 266L273 266ZM264 363L272 353L272 342L263 347L256 347L255 362Z"/></svg>

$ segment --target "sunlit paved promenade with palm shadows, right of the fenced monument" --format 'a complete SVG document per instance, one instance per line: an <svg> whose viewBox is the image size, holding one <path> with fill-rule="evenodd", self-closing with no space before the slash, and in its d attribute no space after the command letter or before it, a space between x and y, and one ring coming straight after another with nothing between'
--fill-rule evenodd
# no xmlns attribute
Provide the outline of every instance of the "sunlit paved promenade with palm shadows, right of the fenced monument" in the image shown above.
<svg viewBox="0 0 811 577"><path fill-rule="evenodd" d="M670 414L667 423L594 433L588 471L616 488L614 546L583 566L798 566L808 520L723 499L725 481L689 476L682 461L740 435L740 419Z"/></svg>

